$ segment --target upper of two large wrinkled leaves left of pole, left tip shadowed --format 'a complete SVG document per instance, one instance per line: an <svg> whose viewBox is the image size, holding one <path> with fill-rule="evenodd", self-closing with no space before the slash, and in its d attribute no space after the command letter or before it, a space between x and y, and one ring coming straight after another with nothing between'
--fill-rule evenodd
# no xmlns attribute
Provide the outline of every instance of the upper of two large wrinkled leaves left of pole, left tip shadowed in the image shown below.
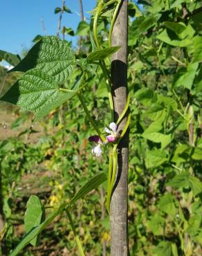
<svg viewBox="0 0 202 256"><path fill-rule="evenodd" d="M52 76L55 82L62 83L71 75L74 67L75 55L68 42L48 36L37 42L11 71L26 72L31 68L38 68L46 75Z"/></svg>

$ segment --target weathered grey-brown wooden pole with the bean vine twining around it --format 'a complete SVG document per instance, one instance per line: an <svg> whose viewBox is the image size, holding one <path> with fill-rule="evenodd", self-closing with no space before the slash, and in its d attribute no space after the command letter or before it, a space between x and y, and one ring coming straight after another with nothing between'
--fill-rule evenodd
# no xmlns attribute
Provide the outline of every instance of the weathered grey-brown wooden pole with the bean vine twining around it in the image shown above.
<svg viewBox="0 0 202 256"><path fill-rule="evenodd" d="M111 82L114 103L114 119L125 108L127 102L127 0L122 0L116 23L113 27L112 46L121 46L111 57ZM125 127L126 117L118 127ZM118 146L118 170L111 197L111 256L127 256L127 173L129 154L129 131Z"/></svg>

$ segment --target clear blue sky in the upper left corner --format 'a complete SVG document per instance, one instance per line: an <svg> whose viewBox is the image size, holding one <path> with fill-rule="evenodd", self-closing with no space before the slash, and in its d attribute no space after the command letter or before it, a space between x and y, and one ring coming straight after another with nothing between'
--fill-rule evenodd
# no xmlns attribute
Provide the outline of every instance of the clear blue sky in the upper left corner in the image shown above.
<svg viewBox="0 0 202 256"><path fill-rule="evenodd" d="M87 18L96 0L82 1ZM21 55L22 51L30 49L34 37L44 35L42 20L46 35L56 35L59 14L55 15L54 10L61 6L62 0L0 0L0 50ZM66 0L66 6L73 14L64 13L62 26L76 30L80 22L79 0Z"/></svg>

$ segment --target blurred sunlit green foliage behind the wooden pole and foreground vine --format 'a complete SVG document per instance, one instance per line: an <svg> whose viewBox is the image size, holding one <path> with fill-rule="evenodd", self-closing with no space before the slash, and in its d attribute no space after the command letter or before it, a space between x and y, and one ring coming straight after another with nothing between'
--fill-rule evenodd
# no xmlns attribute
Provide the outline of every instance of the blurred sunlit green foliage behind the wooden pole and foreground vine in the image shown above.
<svg viewBox="0 0 202 256"><path fill-rule="evenodd" d="M129 3L129 249L138 256L201 255L202 1L138 4ZM114 6L109 7L99 19L103 46L107 46ZM91 29L92 21L81 21L77 31L62 30L63 35L80 36L77 60L91 52ZM5 71L1 69L3 83ZM10 73L5 86L17 74ZM80 69L75 67L67 84L79 76ZM89 75L84 97L96 120L109 124L107 89L100 68ZM2 138L0 143L6 219L1 238L8 253L24 234L30 194L39 196L47 213L62 199L71 199L89 177L107 172L107 156L95 161L90 154L87 138L93 128L77 98L51 111L37 127L30 113L17 110L16 116L12 129L19 131L17 136ZM103 183L73 207L86 255L104 255L105 246L109 252L105 188ZM69 221L64 214L60 218L62 221L56 219L42 233L38 247L28 246L22 255L76 255Z"/></svg>

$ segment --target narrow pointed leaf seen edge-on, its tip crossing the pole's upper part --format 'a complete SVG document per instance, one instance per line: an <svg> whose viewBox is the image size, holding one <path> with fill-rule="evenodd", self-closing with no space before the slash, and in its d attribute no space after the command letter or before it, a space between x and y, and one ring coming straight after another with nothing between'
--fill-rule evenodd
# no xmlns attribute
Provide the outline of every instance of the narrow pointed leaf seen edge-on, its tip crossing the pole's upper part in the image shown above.
<svg viewBox="0 0 202 256"><path fill-rule="evenodd" d="M116 53L120 49L120 46L113 46L106 49L94 51L93 53L90 53L89 56L86 58L87 62L95 62L104 60L106 57L112 55L113 53Z"/></svg>

